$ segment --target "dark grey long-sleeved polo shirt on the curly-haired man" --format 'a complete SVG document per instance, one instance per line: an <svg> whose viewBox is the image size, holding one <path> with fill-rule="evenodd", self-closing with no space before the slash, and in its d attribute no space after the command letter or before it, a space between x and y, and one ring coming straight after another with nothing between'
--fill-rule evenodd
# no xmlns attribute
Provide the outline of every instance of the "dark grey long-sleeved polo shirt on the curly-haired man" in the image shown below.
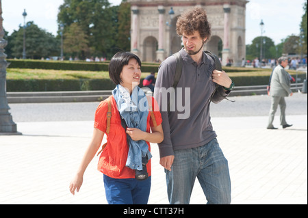
<svg viewBox="0 0 308 218"><path fill-rule="evenodd" d="M203 53L202 61L197 65L184 49L179 53L183 70L175 92L175 104L172 104L176 107L169 113L166 105L168 89L172 89L175 77L175 57L170 56L162 62L155 83L154 97L162 113L164 131L164 141L158 144L160 157L174 155L174 150L203 146L214 139L217 135L211 125L209 103L218 103L228 96L220 86L211 98L216 89L211 77L216 66L214 59Z"/></svg>

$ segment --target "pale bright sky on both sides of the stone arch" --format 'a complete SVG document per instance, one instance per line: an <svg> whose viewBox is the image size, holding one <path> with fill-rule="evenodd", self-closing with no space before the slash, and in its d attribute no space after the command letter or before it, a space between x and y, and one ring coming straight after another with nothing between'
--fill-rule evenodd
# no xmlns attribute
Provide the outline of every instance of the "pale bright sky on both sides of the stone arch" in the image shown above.
<svg viewBox="0 0 308 218"><path fill-rule="evenodd" d="M34 21L38 27L57 35L57 12L64 0L1 0L3 27L11 34L23 25L23 10L27 12L26 22ZM246 4L246 44L261 35L259 23L264 22L263 36L281 43L287 36L299 35L300 21L304 14L306 0L250 0ZM109 0L119 5L121 0Z"/></svg>

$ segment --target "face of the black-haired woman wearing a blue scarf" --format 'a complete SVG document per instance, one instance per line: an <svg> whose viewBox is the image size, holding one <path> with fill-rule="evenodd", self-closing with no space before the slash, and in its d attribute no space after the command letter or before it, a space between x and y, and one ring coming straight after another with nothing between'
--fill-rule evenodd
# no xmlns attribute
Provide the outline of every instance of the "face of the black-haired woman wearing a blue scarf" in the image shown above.
<svg viewBox="0 0 308 218"><path fill-rule="evenodd" d="M140 66L135 58L131 58L129 63L123 66L122 72L120 73L120 79L122 80L120 85L127 87L131 91L133 87L140 83L140 78Z"/></svg>

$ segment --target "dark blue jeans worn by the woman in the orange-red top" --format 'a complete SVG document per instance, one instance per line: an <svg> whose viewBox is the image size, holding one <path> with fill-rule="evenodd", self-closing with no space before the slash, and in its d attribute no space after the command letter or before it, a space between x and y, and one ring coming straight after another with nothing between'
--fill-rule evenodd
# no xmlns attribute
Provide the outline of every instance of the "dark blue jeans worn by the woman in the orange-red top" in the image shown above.
<svg viewBox="0 0 308 218"><path fill-rule="evenodd" d="M104 175L104 186L108 204L148 204L151 176L146 180L136 180Z"/></svg>

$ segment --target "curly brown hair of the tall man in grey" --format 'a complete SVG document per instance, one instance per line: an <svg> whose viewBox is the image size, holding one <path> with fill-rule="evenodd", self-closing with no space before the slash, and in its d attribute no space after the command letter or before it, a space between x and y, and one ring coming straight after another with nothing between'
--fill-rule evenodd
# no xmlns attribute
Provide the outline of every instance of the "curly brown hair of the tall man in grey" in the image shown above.
<svg viewBox="0 0 308 218"><path fill-rule="evenodd" d="M183 36L183 33L190 36L194 31L198 31L203 39L209 40L211 37L211 24L207 21L207 13L200 7L183 12L177 19L177 34L179 36Z"/></svg>

